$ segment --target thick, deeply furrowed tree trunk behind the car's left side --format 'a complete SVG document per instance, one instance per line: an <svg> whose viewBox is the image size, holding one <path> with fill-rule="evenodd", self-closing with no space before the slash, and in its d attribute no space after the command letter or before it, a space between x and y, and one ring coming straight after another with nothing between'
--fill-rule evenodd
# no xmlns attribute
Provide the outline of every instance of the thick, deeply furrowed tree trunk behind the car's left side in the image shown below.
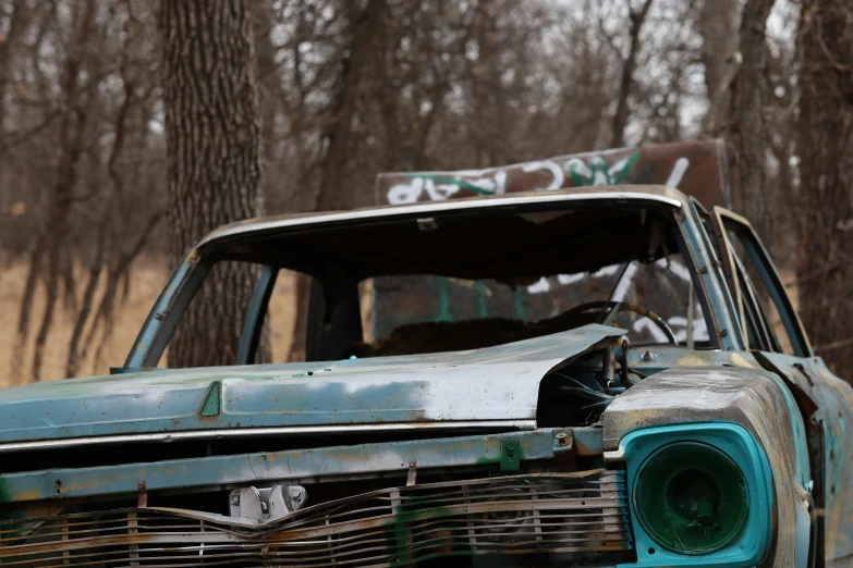
<svg viewBox="0 0 853 568"><path fill-rule="evenodd" d="M260 118L247 0L163 0L160 9L169 227L179 261L215 227L263 213ZM234 362L257 276L257 268L235 263L215 269L175 331L170 367Z"/></svg>

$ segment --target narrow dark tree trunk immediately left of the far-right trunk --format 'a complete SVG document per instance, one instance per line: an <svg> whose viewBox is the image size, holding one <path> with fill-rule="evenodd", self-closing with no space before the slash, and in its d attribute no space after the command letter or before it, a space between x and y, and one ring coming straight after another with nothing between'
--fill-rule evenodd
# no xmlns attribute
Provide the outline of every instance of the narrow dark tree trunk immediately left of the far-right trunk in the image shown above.
<svg viewBox="0 0 853 568"><path fill-rule="evenodd" d="M767 17L775 0L748 0L741 20L741 67L732 92L732 197L772 251L773 192L767 185L765 72Z"/></svg>

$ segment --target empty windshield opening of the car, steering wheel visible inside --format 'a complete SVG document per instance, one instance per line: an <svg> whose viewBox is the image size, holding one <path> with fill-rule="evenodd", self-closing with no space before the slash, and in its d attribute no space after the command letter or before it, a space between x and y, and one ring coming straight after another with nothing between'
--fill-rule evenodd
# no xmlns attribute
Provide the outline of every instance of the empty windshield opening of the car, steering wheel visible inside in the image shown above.
<svg viewBox="0 0 853 568"><path fill-rule="evenodd" d="M466 211L255 235L206 261L287 274L267 279L271 293L259 279L255 297L272 300L251 314L247 297L219 334L235 342L235 363L474 349L590 323L625 330L632 345L711 347L679 231L671 209L631 202ZM300 287L306 317L294 316ZM182 319L217 294L197 294Z"/></svg>

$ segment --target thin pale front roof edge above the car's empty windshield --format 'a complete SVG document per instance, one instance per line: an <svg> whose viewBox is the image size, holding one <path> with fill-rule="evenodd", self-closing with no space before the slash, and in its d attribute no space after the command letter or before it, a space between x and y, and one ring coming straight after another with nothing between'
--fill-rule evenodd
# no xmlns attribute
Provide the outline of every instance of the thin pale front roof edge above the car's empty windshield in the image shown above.
<svg viewBox="0 0 853 568"><path fill-rule="evenodd" d="M647 201L671 208L682 208L687 196L662 185L620 185L573 187L548 192L511 193L484 197L465 197L441 201L418 201L405 205L374 206L349 211L322 211L260 217L223 225L205 236L196 248L216 247L246 236L324 224L351 224L395 217L432 215L442 212L471 211L535 203L604 200L613 202Z"/></svg>

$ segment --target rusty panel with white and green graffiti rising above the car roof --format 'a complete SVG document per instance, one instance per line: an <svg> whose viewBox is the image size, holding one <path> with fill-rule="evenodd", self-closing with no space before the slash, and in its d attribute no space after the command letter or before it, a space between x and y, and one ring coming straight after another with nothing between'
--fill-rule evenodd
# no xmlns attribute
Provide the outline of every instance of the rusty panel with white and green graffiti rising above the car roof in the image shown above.
<svg viewBox="0 0 853 568"><path fill-rule="evenodd" d="M677 187L705 207L726 207L730 198L724 145L722 140L682 141L560 156L485 170L383 173L376 178L376 203L626 184Z"/></svg>

